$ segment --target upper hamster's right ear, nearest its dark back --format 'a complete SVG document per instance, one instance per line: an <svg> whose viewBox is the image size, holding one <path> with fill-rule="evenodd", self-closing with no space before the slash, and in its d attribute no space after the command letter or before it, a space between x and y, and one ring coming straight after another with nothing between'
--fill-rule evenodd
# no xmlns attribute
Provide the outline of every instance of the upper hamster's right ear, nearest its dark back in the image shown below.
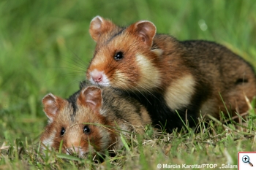
<svg viewBox="0 0 256 170"><path fill-rule="evenodd" d="M148 47L152 46L154 36L157 32L157 28L154 26L154 23L151 23L148 20L140 20L129 26L128 29L140 36Z"/></svg>

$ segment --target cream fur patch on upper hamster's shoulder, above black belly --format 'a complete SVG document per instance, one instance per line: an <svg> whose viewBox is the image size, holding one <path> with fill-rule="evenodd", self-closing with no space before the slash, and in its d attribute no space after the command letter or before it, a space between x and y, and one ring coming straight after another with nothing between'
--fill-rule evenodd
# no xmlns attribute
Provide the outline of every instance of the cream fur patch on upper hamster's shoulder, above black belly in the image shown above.
<svg viewBox="0 0 256 170"><path fill-rule="evenodd" d="M192 95L195 92L194 77L189 74L171 82L165 93L165 101L170 109L181 109L190 104Z"/></svg>

